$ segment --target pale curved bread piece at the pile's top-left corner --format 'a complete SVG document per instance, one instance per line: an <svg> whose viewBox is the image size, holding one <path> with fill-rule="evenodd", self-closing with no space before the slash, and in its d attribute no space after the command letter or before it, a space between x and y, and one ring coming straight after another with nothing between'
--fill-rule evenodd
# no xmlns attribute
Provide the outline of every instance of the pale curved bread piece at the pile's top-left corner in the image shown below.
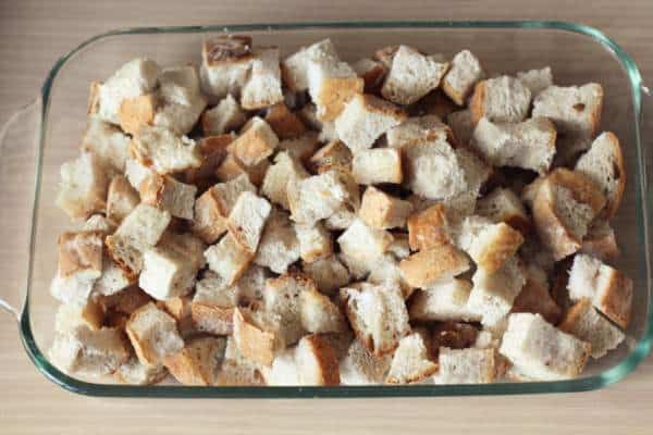
<svg viewBox="0 0 653 435"><path fill-rule="evenodd" d="M158 85L159 72L159 65L148 59L133 59L122 65L99 86L97 116L120 124L123 101L151 92Z"/></svg>

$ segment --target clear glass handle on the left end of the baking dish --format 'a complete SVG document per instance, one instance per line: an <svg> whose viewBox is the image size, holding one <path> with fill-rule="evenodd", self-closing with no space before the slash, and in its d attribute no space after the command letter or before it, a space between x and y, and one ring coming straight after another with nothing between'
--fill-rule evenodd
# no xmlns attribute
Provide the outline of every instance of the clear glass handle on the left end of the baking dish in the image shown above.
<svg viewBox="0 0 653 435"><path fill-rule="evenodd" d="M27 297L41 98L0 129L0 308L21 320Z"/></svg>

